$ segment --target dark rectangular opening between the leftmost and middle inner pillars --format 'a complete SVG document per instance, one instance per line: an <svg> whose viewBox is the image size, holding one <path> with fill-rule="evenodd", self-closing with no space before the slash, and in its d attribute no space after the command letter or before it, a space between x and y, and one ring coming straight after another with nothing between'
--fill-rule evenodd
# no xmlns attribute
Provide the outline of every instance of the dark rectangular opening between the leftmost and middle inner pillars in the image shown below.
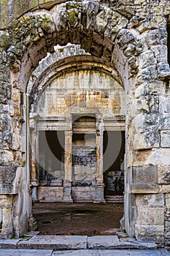
<svg viewBox="0 0 170 256"><path fill-rule="evenodd" d="M64 132L39 132L39 185L55 187L63 185Z"/></svg>

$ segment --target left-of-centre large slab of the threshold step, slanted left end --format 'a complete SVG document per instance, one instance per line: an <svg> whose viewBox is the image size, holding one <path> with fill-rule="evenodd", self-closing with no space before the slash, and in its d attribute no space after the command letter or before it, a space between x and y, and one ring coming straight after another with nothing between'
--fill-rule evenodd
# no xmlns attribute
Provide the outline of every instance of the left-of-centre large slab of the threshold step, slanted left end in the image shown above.
<svg viewBox="0 0 170 256"><path fill-rule="evenodd" d="M34 236L20 241L18 248L26 249L86 249L87 236Z"/></svg>

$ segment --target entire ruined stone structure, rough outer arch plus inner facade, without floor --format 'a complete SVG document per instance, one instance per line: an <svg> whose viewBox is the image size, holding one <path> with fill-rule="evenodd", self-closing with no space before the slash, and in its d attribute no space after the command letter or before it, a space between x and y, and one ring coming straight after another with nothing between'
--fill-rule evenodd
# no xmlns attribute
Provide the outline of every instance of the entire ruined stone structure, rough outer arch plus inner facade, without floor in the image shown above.
<svg viewBox="0 0 170 256"><path fill-rule="evenodd" d="M169 1L3 2L0 20L0 237L31 228L32 200L104 203L119 179L128 236L169 244Z"/></svg>

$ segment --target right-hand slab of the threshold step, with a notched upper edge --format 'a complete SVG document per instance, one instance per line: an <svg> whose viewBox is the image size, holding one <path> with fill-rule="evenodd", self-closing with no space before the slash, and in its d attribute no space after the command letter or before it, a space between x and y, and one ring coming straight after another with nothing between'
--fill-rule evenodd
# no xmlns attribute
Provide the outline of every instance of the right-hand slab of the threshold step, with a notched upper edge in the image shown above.
<svg viewBox="0 0 170 256"><path fill-rule="evenodd" d="M119 241L117 236L88 237L88 249L156 249L152 241Z"/></svg>

